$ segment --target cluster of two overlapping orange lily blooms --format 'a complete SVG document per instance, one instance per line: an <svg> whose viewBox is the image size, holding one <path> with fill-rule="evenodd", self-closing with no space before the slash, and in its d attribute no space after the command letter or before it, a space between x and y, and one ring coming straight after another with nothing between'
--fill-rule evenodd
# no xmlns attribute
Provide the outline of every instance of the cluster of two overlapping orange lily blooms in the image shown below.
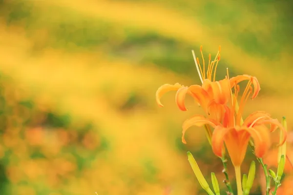
<svg viewBox="0 0 293 195"><path fill-rule="evenodd" d="M194 53L193 57L202 85L164 84L156 92L156 102L160 107L163 107L160 98L169 91L177 91L175 96L176 104L180 110L187 111L185 106L186 95L194 98L203 108L206 116L194 115L183 123L182 142L186 143L184 135L189 127L194 125L205 126L209 131L207 135L210 139L213 153L216 156L223 157L226 146L236 170L244 160L251 138L253 139L254 154L261 158L270 147L270 132L278 128L281 130L280 145L285 142L287 134L282 124L264 111L253 112L243 120L246 102L250 97L251 99L257 97L260 91L260 84L257 78L249 75L230 78L228 68L226 77L222 80L216 80L220 51L221 48L219 47L214 60L211 60L211 55L209 54L209 63L206 67L201 46L200 52L203 65L200 65L199 59L195 58ZM247 81L247 85L244 90L240 90L239 83L243 81Z"/></svg>

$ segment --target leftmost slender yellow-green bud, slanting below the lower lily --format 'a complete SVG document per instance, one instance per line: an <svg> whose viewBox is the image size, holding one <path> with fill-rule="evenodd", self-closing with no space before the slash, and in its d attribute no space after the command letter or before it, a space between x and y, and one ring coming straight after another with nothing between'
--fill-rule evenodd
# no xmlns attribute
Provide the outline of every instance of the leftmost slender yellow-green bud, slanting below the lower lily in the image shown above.
<svg viewBox="0 0 293 195"><path fill-rule="evenodd" d="M188 151L187 152L187 156L188 156L188 161L191 165L191 168L193 170L193 173L195 174L199 184L201 185L201 187L207 191L207 193L209 195L214 195L214 193L211 191L211 189L209 188L209 184L207 182L207 180L205 179L205 177L203 176L202 172L200 171L194 157L192 156L192 154Z"/></svg>

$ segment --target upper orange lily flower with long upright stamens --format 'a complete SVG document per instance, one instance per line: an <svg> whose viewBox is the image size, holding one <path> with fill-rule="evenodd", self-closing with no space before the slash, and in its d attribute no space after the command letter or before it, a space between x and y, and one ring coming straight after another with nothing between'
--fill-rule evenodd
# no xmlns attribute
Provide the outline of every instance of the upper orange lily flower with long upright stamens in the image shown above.
<svg viewBox="0 0 293 195"><path fill-rule="evenodd" d="M215 81L216 70L218 62L220 61L220 51L219 51L213 61L211 61L211 55L209 54L209 64L207 72L205 73L205 60L202 53L202 46L200 47L200 52L203 60L203 68L199 63L199 59L195 58L195 64L199 73L199 77L202 81L202 85L191 85L189 87L176 83L174 85L164 84L156 92L156 101L160 107L163 107L163 104L160 101L160 98L169 91L177 91L175 101L182 111L187 111L185 107L185 97L186 94L193 97L198 104L204 109L204 111L210 115L210 118L213 118L219 122L224 119L225 114L225 105L230 99L230 88L237 85L243 80L251 80L254 85L254 93L252 99L258 95L260 91L260 86L258 80L255 77L248 75L236 76L229 79L228 77Z"/></svg>

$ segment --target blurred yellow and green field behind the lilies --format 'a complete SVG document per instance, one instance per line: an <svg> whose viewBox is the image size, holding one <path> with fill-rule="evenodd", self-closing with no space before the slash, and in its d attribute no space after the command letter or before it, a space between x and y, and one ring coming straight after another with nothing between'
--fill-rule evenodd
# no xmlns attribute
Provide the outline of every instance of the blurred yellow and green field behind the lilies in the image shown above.
<svg viewBox="0 0 293 195"><path fill-rule="evenodd" d="M221 45L217 79L229 67L261 84L246 114L286 116L291 128L291 11L272 0L0 0L0 194L205 194L187 151L224 192L204 130L181 142L201 109L188 98L179 111L174 93L158 108L155 92L199 84L191 50L203 45L207 59Z"/></svg>

